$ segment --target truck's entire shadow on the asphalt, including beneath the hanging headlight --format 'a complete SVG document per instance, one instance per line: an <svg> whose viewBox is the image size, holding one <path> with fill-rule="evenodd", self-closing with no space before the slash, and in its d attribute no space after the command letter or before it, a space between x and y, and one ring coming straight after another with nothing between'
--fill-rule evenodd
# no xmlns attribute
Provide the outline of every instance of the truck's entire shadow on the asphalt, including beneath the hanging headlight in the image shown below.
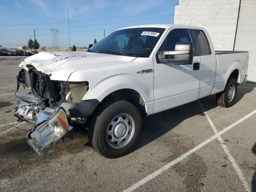
<svg viewBox="0 0 256 192"><path fill-rule="evenodd" d="M247 86L250 86L251 88L238 89L237 102L241 100L245 94L250 93L253 90L252 88L256 87L256 84L246 85L245 87ZM217 107L215 95L203 98L201 99L201 102L206 111ZM193 116L202 115L204 115L202 109L200 108L198 102L194 101L144 118L140 141L133 151L136 151L150 142L158 139L160 136L178 126L184 120ZM50 156L48 156L46 159L60 158L60 156L65 156L70 153L76 154L85 149L92 150L92 148L88 147L90 144L88 142L87 135L88 131L84 130L84 128L79 126L75 127L73 134L68 138L65 138L64 142L60 140L57 146L58 150L50 154ZM15 137L16 136L14 135L12 136L12 138ZM34 160L42 160L27 144L25 135L24 137L18 136L16 139L2 143L0 154L2 159L11 158L24 161L27 160L28 163ZM43 161L48 162L46 159Z"/></svg>

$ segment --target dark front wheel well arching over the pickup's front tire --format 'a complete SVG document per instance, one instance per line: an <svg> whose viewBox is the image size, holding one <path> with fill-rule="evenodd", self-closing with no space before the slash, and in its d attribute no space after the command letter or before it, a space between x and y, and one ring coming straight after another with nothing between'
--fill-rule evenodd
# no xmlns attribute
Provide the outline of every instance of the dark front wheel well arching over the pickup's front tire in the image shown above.
<svg viewBox="0 0 256 192"><path fill-rule="evenodd" d="M134 104L142 117L146 116L146 104L142 96L135 90L132 89L120 89L112 92L108 96L106 96L102 102L106 102L109 100L126 100Z"/></svg>

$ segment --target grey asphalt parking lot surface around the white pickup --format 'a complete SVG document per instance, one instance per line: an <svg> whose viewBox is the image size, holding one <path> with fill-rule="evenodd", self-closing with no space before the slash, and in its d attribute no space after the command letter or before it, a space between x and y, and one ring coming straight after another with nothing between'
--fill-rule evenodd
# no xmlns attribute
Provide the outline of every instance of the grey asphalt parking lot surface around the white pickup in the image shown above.
<svg viewBox="0 0 256 192"><path fill-rule="evenodd" d="M76 128L70 133L73 139L60 141L57 150L42 159L26 142L32 125L14 123L16 74L23 59L0 57L0 191L122 191L214 135L195 101L144 118L140 142L122 158L98 155L88 145L88 132ZM239 86L231 108L216 106L214 96L200 102L220 132L254 111L255 98L256 84L246 83ZM135 190L240 192L247 184L247 190L256 191L255 116L222 134L223 143L214 139Z"/></svg>

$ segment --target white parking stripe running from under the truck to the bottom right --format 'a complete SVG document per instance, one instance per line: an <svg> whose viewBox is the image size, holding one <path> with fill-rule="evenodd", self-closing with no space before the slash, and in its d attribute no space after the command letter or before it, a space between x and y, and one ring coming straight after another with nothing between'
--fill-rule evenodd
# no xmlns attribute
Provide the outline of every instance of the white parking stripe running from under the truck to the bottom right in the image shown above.
<svg viewBox="0 0 256 192"><path fill-rule="evenodd" d="M200 107L202 108L202 110L203 110L203 112L204 112L204 114L205 114L205 116L206 116L208 122L210 123L210 125L211 125L211 127L212 127L212 130L214 131L215 134L218 134L218 131L217 131L216 127L214 126L214 124L213 124L213 122L212 122L210 116L208 115L208 113L204 110L204 106L202 105L202 103L200 102L200 100L198 100L198 103L199 103ZM230 151L228 150L228 147L224 144L224 141L223 141L223 139L221 138L221 136L218 136L217 138L218 138L218 140L219 140L219 142L220 142L222 148L224 149L225 153L227 154L228 159L230 160L232 166L233 166L234 169L236 170L236 172L237 172L237 174L238 174L238 176L239 176L239 178L240 178L242 184L244 185L245 190L246 190L247 192L250 192L250 188L249 188L249 186L248 186L248 184L247 184L247 182L246 182L246 180L245 180L245 178L244 178L244 175L243 175L242 171L240 170L238 164L237 164L236 161L234 160L232 154L231 154Z"/></svg>

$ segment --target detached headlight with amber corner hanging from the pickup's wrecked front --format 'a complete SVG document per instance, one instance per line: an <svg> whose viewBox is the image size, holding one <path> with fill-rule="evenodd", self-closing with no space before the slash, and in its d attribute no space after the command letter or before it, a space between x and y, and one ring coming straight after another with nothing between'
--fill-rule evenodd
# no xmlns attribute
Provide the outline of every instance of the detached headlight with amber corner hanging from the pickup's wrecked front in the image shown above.
<svg viewBox="0 0 256 192"><path fill-rule="evenodd" d="M28 144L42 157L56 149L58 140L68 132L68 120L65 111L60 108L49 121L42 123L30 134Z"/></svg>

